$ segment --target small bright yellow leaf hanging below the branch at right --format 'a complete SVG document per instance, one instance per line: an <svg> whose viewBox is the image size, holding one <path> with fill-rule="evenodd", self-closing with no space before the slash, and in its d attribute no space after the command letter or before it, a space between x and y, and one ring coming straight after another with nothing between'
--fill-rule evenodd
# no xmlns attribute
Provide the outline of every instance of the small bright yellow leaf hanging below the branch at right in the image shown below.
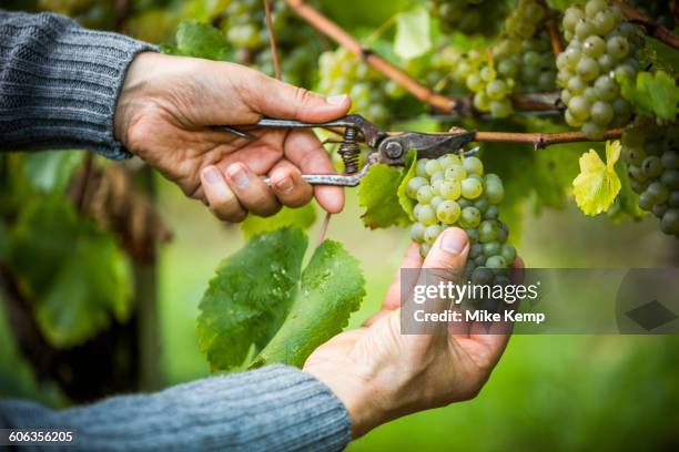
<svg viewBox="0 0 679 452"><path fill-rule="evenodd" d="M608 210L620 192L620 178L615 164L620 157L620 142L606 143L606 163L595 150L580 157L580 174L572 181L572 194L585 215Z"/></svg>

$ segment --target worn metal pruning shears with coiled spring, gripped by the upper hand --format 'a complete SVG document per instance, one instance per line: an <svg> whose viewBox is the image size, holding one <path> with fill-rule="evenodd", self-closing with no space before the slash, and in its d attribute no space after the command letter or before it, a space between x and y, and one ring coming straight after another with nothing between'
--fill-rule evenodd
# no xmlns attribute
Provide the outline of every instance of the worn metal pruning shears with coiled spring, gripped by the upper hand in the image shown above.
<svg viewBox="0 0 679 452"><path fill-rule="evenodd" d="M415 150L417 160L437 158L444 154L458 152L474 140L473 131L452 131L447 133L395 132L387 133L359 114L351 114L325 123L306 123L301 121L263 119L256 127L275 129L313 129L321 127L337 131L342 129L342 141L337 153L344 163L344 174L304 174L302 177L312 185L340 185L355 187L367 174L371 165L384 163L393 166L404 166L408 151ZM254 138L250 133L232 126L220 129L231 132L242 138ZM371 153L362 168L358 167L361 156L359 143L364 143ZM477 148L467 151L473 155ZM265 179L268 184L268 179Z"/></svg>

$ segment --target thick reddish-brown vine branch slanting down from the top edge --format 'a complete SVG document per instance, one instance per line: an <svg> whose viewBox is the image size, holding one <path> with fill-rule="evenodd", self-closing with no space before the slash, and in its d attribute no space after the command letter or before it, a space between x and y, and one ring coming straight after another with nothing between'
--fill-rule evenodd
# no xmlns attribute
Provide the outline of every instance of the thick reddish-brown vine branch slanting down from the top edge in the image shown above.
<svg viewBox="0 0 679 452"><path fill-rule="evenodd" d="M435 93L405 73L402 69L389 63L374 51L364 48L354 37L335 22L321 14L314 8L306 4L303 0L287 0L287 3L301 19L361 58L371 68L403 86L419 101L444 113L457 112L465 116L474 114L474 104L470 96L453 99ZM556 97L556 94L529 94L515 95L511 97L511 101L517 110L544 111L555 110Z"/></svg>

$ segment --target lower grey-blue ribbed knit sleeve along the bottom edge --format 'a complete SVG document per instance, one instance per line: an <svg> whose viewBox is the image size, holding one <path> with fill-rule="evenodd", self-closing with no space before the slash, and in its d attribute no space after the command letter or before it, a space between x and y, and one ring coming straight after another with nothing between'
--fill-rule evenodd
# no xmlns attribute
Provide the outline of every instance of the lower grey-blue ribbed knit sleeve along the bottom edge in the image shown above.
<svg viewBox="0 0 679 452"><path fill-rule="evenodd" d="M342 402L285 366L63 411L4 400L0 428L71 429L77 442L67 451L341 451L351 440Z"/></svg>

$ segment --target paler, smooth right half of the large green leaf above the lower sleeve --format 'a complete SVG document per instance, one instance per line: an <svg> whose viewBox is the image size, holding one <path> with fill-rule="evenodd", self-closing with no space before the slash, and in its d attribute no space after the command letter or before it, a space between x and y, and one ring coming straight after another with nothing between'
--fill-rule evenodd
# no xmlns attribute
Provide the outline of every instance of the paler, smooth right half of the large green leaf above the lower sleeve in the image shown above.
<svg viewBox="0 0 679 452"><path fill-rule="evenodd" d="M302 274L285 322L253 362L302 367L316 347L342 331L365 296L358 261L341 244L323 242Z"/></svg>

